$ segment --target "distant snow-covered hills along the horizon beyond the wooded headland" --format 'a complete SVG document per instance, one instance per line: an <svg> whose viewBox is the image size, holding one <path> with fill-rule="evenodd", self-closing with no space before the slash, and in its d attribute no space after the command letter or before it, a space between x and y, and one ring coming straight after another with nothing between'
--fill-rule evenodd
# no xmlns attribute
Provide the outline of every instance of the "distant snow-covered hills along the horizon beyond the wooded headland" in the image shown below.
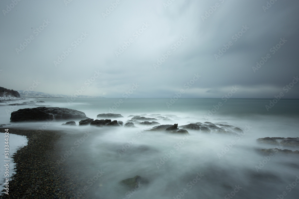
<svg viewBox="0 0 299 199"><path fill-rule="evenodd" d="M72 98L74 95L60 95L60 94L49 94L45 92L34 92L34 91L18 91L23 98ZM78 95L76 98L104 98L100 96L88 96L88 95Z"/></svg>

